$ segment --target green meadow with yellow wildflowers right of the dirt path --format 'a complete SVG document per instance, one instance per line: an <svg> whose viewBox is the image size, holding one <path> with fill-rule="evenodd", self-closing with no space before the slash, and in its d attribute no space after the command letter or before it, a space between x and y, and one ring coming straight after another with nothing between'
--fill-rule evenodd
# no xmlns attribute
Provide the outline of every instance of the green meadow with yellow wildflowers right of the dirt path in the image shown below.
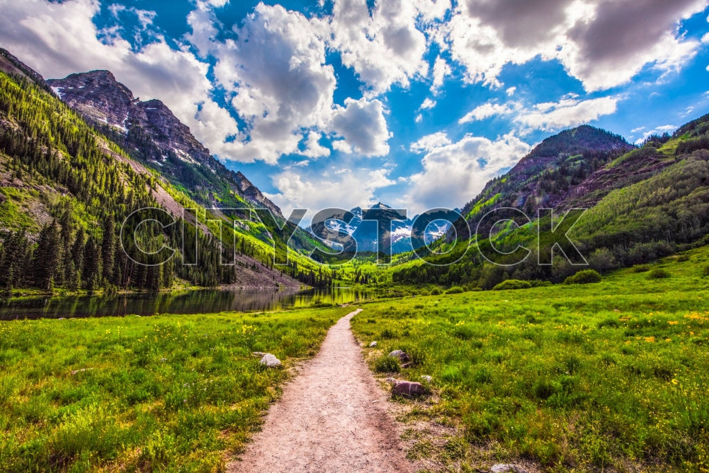
<svg viewBox="0 0 709 473"><path fill-rule="evenodd" d="M378 341L373 369L375 354L404 350L415 362L399 379L432 376L435 401L406 419L459 428L463 471L707 471L708 258L667 258L652 266L662 279L625 269L584 286L367 304L353 328Z"/></svg>

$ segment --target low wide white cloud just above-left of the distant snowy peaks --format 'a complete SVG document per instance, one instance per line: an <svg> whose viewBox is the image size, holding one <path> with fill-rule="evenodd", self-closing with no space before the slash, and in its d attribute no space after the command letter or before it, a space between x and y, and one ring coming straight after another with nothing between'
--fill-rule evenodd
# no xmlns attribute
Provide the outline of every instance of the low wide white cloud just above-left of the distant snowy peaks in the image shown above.
<svg viewBox="0 0 709 473"><path fill-rule="evenodd" d="M388 169L331 168L324 172L286 170L272 177L277 194L267 194L288 215L293 208L306 208L309 215L325 208L350 209L376 204L378 189L396 184Z"/></svg>

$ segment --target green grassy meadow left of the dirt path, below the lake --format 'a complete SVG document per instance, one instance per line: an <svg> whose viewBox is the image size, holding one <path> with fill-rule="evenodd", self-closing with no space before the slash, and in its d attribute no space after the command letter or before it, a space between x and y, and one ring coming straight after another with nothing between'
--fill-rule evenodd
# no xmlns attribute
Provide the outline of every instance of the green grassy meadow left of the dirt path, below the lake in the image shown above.
<svg viewBox="0 0 709 473"><path fill-rule="evenodd" d="M347 311L0 322L0 469L223 471Z"/></svg>

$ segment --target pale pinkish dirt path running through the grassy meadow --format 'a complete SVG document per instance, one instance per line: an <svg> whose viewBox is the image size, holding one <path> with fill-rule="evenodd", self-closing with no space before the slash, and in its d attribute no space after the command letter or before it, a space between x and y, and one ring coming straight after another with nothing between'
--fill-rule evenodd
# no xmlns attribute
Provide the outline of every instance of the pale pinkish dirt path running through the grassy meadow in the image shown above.
<svg viewBox="0 0 709 473"><path fill-rule="evenodd" d="M355 311L330 328L269 409L263 430L230 472L407 472L386 396L350 331Z"/></svg>

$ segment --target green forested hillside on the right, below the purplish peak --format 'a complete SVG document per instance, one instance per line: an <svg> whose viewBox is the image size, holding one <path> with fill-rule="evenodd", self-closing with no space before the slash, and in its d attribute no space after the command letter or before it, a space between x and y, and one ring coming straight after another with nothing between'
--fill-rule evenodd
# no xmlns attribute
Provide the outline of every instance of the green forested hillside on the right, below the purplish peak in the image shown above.
<svg viewBox="0 0 709 473"><path fill-rule="evenodd" d="M605 155L613 156L613 152ZM532 223L516 216L517 225L508 221L504 226L485 227L486 231L470 242L461 241L454 246L441 244L437 252L447 254L428 257L429 262L434 263L432 265L421 262L414 255L406 255L391 269L393 282L466 284L484 289L491 289L506 279L561 282L588 267L605 272L709 244L709 116L688 123L672 136L651 137L642 148L600 167L598 164L586 166L586 155L574 160L580 163L579 169L598 169L579 174L588 174L580 182L574 182L574 177L558 169L549 171L547 168L536 174L542 176L536 181L537 189L543 188L542 182L547 182L549 174L566 176L564 180L574 184L574 187L569 185L559 199L553 220L549 212L542 212L537 219L537 212L532 209ZM529 182L525 178L518 181L515 173L510 172L489 184L487 189L503 189L505 186L525 189ZM498 205L530 210L526 208L527 201L515 201L509 195L501 194L493 205L484 201L487 197L484 192L477 200L478 204L468 211L470 223L476 223L484 213ZM488 203L480 205L481 201ZM584 206L588 208L585 213L583 210L571 211L561 220L567 210ZM496 215L491 222L507 216ZM471 228L473 232L476 230L476 226ZM486 239L489 230L493 230L492 242ZM555 243L560 243L572 260L576 257L575 250L563 238L567 231L588 266L571 265L558 245L552 261ZM530 250L521 263L527 253L518 249L520 245ZM506 252L510 255L503 254ZM489 260L497 264L493 265ZM540 265L547 260L553 264ZM452 262L454 264L450 264ZM577 258L574 263L583 263L583 260Z"/></svg>

